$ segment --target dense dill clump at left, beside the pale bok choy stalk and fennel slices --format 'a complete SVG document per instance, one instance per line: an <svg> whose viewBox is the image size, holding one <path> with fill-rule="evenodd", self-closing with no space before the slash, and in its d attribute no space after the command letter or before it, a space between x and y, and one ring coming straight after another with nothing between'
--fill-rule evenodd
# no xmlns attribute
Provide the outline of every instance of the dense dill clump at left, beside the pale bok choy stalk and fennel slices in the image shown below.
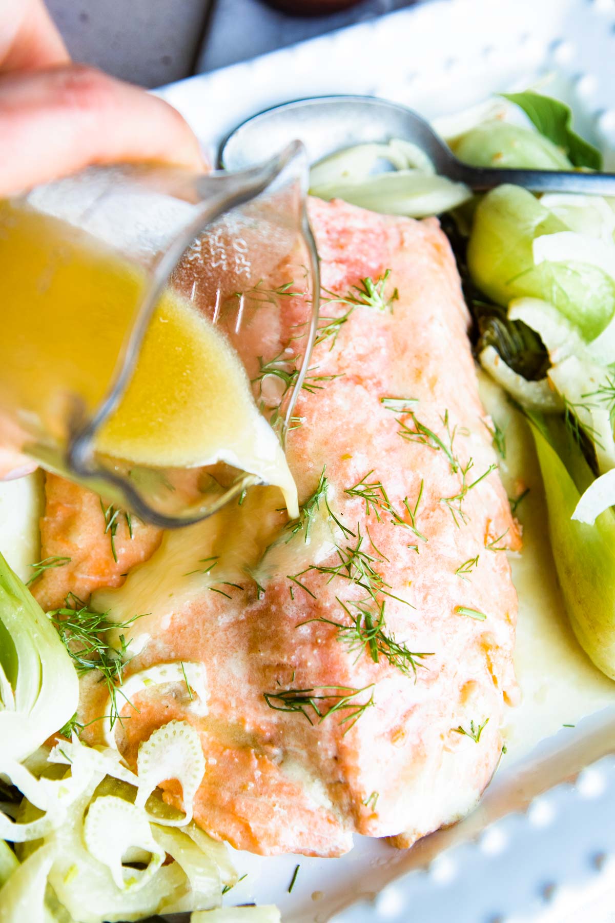
<svg viewBox="0 0 615 923"><path fill-rule="evenodd" d="M106 635L111 629L127 629L142 616L134 616L125 622L112 622L108 612L94 612L74 593L69 593L65 603L63 608L53 609L49 617L72 658L77 674L83 676L90 670L100 672L101 682L107 687L111 699L109 719L113 726L115 721L121 721L122 703L118 704L117 694L124 696L121 686L124 667L130 662L130 658L126 657L129 641L121 634L119 645L114 647L106 640ZM131 704L125 696L124 701Z"/></svg>

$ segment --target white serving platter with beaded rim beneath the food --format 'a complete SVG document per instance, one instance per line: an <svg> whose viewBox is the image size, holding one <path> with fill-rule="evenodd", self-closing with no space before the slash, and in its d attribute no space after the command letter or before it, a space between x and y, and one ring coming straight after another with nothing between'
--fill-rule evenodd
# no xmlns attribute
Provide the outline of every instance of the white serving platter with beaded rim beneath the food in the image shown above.
<svg viewBox="0 0 615 923"><path fill-rule="evenodd" d="M602 146L612 168L615 0L437 0L183 80L160 95L183 113L214 162L234 126L278 102L372 94L433 118L547 75L549 92L573 106L575 125ZM587 888L599 881L604 891L612 881L615 919L615 685L593 676L561 612L551 612L552 624L533 639L523 604L520 636L523 627L525 647L538 645L538 673L544 651L544 682L521 706L525 747L507 756L479 809L408 851L357 837L340 859L236 853L247 877L231 903L276 903L285 923L607 923L589 907ZM579 695L573 690L571 699L575 683ZM560 698L574 702L576 726L553 734Z"/></svg>

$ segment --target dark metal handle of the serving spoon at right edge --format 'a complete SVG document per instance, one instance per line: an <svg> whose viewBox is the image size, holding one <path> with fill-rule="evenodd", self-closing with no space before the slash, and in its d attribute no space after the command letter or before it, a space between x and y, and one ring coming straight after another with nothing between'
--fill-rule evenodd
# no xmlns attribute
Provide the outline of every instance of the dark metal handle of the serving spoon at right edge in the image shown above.
<svg viewBox="0 0 615 923"><path fill-rule="evenodd" d="M615 174L581 173L576 170L498 170L455 164L451 178L466 183L474 192L485 192L503 183L524 186L531 192L578 192L586 196L615 196Z"/></svg>

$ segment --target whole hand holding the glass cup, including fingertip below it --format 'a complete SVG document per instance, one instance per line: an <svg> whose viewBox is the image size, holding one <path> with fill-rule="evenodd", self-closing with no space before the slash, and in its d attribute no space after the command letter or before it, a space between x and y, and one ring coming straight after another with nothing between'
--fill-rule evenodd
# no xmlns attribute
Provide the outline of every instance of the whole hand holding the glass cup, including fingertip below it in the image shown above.
<svg viewBox="0 0 615 923"><path fill-rule="evenodd" d="M207 170L194 134L168 103L71 63L42 0L0 0L0 197L118 162ZM0 448L0 479L35 467Z"/></svg>

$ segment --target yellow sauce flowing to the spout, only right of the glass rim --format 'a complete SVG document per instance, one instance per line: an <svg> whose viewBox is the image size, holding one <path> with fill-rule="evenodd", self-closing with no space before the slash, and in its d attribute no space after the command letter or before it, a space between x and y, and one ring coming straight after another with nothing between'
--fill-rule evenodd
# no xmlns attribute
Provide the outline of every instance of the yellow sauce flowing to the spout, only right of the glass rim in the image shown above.
<svg viewBox="0 0 615 923"><path fill-rule="evenodd" d="M160 299L135 373L96 449L159 468L227 462L278 486L290 518L299 515L286 457L238 355L207 318L171 293Z"/></svg>

